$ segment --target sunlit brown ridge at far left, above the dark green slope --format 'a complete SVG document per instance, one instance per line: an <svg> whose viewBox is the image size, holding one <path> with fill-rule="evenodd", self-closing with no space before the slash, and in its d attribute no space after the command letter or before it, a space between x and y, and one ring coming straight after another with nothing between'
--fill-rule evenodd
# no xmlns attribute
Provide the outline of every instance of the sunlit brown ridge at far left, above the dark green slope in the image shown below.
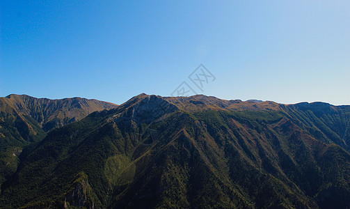
<svg viewBox="0 0 350 209"><path fill-rule="evenodd" d="M15 116L31 116L45 132L79 121L94 111L118 107L117 104L86 98L49 100L11 94L0 98L0 111Z"/></svg>

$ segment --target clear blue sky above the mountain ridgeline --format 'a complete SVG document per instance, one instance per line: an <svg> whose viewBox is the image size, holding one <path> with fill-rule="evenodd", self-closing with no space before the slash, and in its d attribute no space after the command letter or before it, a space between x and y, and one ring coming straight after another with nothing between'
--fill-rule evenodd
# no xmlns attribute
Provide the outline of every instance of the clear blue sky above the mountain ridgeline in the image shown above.
<svg viewBox="0 0 350 209"><path fill-rule="evenodd" d="M349 0L0 1L0 96L121 104L185 82L223 99L350 104L349 10ZM198 88L189 75L200 63L212 77Z"/></svg>

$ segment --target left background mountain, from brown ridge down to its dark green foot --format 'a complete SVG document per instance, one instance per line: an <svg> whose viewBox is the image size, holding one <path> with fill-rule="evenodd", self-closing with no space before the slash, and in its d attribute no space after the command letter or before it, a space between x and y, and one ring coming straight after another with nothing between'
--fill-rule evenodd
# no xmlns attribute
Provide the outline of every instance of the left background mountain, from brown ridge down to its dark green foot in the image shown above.
<svg viewBox="0 0 350 209"><path fill-rule="evenodd" d="M0 185L16 171L25 146L41 141L56 127L112 107L117 105L85 98L49 100L15 94L0 98Z"/></svg>

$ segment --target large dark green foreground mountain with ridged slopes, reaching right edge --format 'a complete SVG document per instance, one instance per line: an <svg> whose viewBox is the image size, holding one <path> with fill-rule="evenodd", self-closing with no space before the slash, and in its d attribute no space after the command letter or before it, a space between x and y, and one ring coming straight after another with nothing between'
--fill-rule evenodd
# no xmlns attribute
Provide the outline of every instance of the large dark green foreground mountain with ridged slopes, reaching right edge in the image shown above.
<svg viewBox="0 0 350 209"><path fill-rule="evenodd" d="M3 208L347 208L350 106L138 95L22 152Z"/></svg>

